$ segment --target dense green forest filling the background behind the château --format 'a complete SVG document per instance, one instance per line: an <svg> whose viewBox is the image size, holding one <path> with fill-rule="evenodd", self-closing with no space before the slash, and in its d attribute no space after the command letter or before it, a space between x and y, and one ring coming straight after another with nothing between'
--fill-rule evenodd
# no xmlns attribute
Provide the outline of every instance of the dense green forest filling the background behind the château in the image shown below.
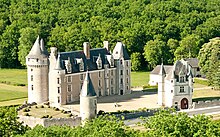
<svg viewBox="0 0 220 137"><path fill-rule="evenodd" d="M122 41L133 70L150 70L220 36L220 0L0 0L0 68L25 67L38 35L59 51Z"/></svg>

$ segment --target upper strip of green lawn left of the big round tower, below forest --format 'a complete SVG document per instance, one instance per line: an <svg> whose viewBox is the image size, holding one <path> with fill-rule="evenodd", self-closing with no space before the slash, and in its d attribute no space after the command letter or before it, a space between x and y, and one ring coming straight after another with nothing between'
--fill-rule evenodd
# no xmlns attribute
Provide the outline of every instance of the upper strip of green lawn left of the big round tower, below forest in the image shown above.
<svg viewBox="0 0 220 137"><path fill-rule="evenodd" d="M27 85L26 69L0 69L0 83Z"/></svg>

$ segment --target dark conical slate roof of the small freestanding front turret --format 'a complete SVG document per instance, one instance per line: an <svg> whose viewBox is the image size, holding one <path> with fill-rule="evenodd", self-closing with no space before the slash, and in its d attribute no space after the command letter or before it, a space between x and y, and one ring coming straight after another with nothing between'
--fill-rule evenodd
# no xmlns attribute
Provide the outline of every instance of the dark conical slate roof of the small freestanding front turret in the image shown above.
<svg viewBox="0 0 220 137"><path fill-rule="evenodd" d="M96 96L95 89L93 87L92 81L89 76L89 72L86 72L86 76L83 82L82 90L81 90L81 96Z"/></svg>

